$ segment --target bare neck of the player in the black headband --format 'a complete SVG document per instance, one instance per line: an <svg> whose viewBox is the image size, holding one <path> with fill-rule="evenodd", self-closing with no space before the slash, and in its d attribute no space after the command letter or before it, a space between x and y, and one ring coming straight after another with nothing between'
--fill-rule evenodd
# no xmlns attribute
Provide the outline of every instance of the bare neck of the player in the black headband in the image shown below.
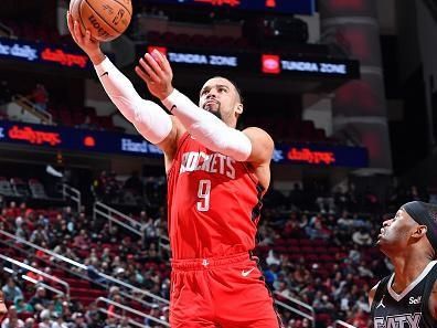
<svg viewBox="0 0 437 328"><path fill-rule="evenodd" d="M424 252L409 252L391 258L395 267L393 290L402 293L431 262Z"/></svg>

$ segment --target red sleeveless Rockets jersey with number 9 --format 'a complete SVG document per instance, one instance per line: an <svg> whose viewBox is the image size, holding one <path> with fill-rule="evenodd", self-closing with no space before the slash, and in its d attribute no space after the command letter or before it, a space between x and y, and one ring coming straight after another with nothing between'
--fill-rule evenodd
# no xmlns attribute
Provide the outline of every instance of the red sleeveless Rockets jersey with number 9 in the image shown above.
<svg viewBox="0 0 437 328"><path fill-rule="evenodd" d="M263 187L245 162L211 151L186 133L168 174L172 257L253 250L262 194Z"/></svg>

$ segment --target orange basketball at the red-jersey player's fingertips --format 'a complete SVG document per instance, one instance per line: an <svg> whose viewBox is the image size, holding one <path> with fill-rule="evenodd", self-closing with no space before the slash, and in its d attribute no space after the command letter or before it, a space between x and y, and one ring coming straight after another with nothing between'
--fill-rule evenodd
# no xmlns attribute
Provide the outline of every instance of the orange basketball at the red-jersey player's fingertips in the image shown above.
<svg viewBox="0 0 437 328"><path fill-rule="evenodd" d="M82 32L89 30L100 42L120 36L130 23L130 0L71 0L70 12L79 22Z"/></svg>

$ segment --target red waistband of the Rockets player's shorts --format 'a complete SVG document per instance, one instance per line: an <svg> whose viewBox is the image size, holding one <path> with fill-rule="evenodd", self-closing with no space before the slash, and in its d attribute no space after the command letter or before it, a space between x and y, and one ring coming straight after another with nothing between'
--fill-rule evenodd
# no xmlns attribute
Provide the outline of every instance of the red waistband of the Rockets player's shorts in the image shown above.
<svg viewBox="0 0 437 328"><path fill-rule="evenodd" d="M214 256L205 258L186 258L186 260L171 260L171 267L173 269L190 271L190 269L209 269L233 263L239 263L251 260L248 252L237 253L226 256Z"/></svg>

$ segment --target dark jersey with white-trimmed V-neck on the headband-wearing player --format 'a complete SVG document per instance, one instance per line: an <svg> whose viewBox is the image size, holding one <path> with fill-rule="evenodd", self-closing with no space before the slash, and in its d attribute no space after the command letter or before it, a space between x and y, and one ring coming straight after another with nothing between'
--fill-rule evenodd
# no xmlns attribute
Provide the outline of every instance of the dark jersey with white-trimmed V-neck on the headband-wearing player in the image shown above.
<svg viewBox="0 0 437 328"><path fill-rule="evenodd" d="M372 303L374 328L436 328L429 296L437 278L437 261L430 262L402 294L392 289L394 274L382 279Z"/></svg>

